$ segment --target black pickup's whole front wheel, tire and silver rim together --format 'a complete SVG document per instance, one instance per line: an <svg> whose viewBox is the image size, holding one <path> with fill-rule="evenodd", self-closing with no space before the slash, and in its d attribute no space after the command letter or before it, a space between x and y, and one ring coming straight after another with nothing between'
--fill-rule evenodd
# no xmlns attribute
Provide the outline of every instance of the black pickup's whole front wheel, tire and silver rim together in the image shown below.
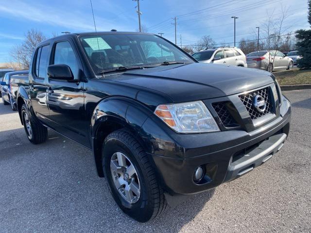
<svg viewBox="0 0 311 233"><path fill-rule="evenodd" d="M121 210L139 222L160 215L167 203L147 154L127 131L104 140L103 168L110 192Z"/></svg>

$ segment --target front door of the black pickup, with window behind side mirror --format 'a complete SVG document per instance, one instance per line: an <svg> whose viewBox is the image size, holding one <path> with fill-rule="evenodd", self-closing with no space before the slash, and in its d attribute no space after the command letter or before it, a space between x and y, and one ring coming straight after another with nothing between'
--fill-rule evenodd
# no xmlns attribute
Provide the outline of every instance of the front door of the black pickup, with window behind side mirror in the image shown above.
<svg viewBox="0 0 311 233"><path fill-rule="evenodd" d="M70 67L74 80L53 80L48 77L47 100L51 124L55 130L89 147L88 125L84 107L84 83L80 82L82 63L71 40L55 41L51 52L51 65Z"/></svg>

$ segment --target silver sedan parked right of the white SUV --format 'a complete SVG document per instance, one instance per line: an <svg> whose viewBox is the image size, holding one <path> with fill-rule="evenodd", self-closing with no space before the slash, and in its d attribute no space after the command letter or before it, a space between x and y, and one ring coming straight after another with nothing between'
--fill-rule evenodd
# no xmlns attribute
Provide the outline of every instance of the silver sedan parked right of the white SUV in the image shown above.
<svg viewBox="0 0 311 233"><path fill-rule="evenodd" d="M294 61L277 50L261 50L247 54L247 67L263 69L269 72L281 69L292 69Z"/></svg>

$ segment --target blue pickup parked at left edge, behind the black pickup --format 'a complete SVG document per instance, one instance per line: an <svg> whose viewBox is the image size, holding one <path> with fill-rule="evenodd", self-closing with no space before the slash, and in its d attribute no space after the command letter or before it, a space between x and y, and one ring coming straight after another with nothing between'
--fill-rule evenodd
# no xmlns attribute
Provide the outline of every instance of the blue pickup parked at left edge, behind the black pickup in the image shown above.
<svg viewBox="0 0 311 233"><path fill-rule="evenodd" d="M28 70L8 72L0 83L3 104L11 104L13 111L17 110L16 95L18 87L28 82L28 73Z"/></svg>

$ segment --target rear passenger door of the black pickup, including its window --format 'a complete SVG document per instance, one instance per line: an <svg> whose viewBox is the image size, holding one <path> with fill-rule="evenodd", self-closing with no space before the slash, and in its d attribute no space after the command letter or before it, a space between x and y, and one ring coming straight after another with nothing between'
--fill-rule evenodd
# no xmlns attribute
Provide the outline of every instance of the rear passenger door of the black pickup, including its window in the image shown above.
<svg viewBox="0 0 311 233"><path fill-rule="evenodd" d="M47 66L50 44L37 48L29 72L29 95L35 115L44 123L50 116L46 98Z"/></svg>

